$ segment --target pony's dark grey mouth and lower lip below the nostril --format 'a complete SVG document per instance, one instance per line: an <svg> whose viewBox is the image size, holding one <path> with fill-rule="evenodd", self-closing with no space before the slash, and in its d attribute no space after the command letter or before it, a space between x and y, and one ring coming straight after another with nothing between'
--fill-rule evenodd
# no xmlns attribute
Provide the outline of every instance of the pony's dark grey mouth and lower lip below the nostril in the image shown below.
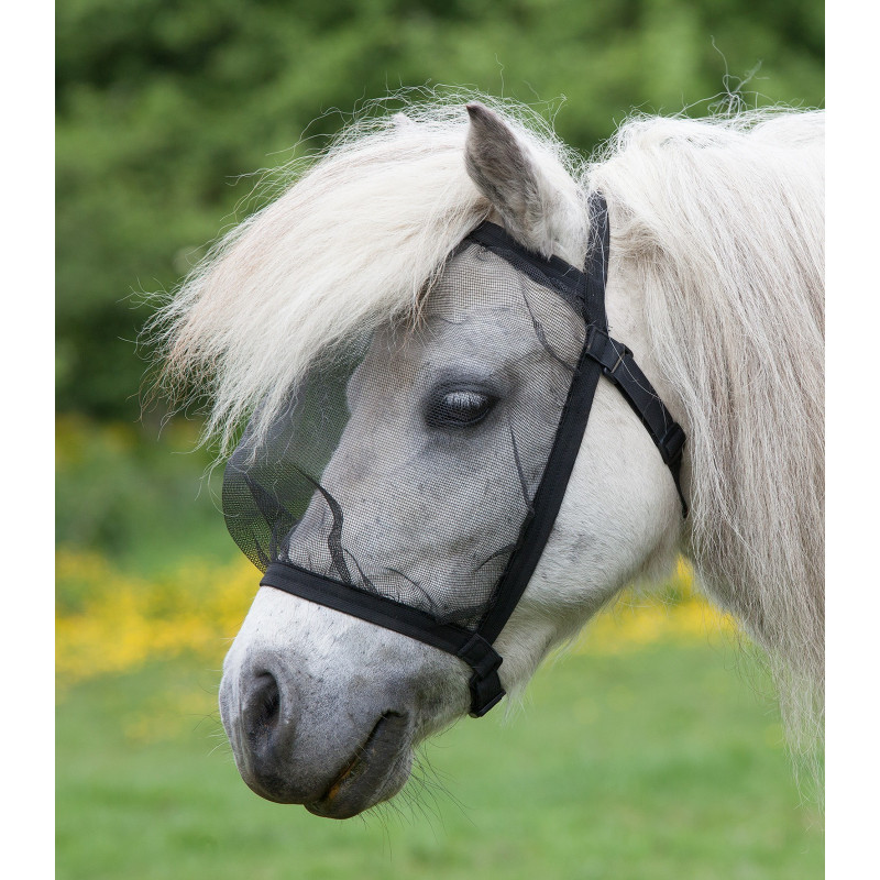
<svg viewBox="0 0 880 880"><path fill-rule="evenodd" d="M305 804L306 810L326 818L351 818L396 794L411 765L408 727L405 715L383 713L327 791Z"/></svg>

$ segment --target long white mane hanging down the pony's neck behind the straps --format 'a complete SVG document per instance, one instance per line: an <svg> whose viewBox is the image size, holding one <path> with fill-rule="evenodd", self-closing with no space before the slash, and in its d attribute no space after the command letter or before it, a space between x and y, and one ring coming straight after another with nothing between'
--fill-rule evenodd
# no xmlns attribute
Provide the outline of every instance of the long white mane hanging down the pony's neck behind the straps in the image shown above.
<svg viewBox="0 0 880 880"><path fill-rule="evenodd" d="M809 755L824 719L824 113L634 119L586 178L683 405L688 552L768 650Z"/></svg>

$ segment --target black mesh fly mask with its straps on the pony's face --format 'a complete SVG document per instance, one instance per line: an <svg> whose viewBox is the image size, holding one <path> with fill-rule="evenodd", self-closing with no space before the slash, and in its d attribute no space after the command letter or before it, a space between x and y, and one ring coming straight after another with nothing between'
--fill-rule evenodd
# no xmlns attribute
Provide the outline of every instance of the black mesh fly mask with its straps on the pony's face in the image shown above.
<svg viewBox="0 0 880 880"><path fill-rule="evenodd" d="M415 328L389 322L317 363L226 469L227 526L261 585L461 658L474 716L504 695L493 642L550 535L600 376L681 496L684 433L608 337L607 209L598 196L591 209L583 272L480 226Z"/></svg>

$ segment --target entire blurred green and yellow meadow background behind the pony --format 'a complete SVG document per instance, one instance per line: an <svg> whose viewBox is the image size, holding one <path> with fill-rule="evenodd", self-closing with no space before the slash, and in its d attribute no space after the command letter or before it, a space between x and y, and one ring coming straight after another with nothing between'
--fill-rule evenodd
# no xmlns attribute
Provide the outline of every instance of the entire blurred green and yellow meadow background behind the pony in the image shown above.
<svg viewBox="0 0 880 880"><path fill-rule="evenodd" d="M213 694L256 573L202 480L197 414L141 417L134 340L143 295L264 204L260 173L366 101L516 98L584 154L634 109L818 107L823 4L64 0L56 34L58 876L818 877L772 701L715 618L682 635L686 579L668 631L618 619L627 651L579 650L510 725L431 747L466 809L426 795L334 825L250 794Z"/></svg>

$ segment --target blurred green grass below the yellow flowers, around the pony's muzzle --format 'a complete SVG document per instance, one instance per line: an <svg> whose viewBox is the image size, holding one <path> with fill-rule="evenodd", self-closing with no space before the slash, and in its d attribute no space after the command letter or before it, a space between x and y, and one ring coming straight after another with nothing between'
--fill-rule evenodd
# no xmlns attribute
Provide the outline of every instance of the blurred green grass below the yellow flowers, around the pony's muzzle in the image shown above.
<svg viewBox="0 0 880 880"><path fill-rule="evenodd" d="M218 673L95 680L57 710L57 877L820 878L821 818L733 664L710 646L565 658L525 713L427 747L449 794L341 823L245 788L218 737Z"/></svg>

